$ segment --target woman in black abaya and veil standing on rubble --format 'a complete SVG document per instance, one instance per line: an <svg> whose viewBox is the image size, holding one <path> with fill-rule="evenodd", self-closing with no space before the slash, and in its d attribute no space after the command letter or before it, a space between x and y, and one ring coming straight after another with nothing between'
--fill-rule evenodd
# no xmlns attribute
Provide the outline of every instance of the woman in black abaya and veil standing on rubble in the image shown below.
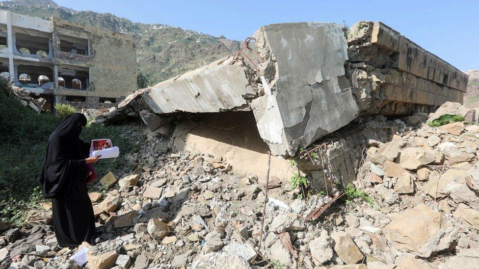
<svg viewBox="0 0 479 269"><path fill-rule="evenodd" d="M61 247L92 242L95 236L93 207L85 186L90 144L80 139L86 117L75 113L66 117L48 140L47 153L38 178L43 197L52 198L53 227Z"/></svg>

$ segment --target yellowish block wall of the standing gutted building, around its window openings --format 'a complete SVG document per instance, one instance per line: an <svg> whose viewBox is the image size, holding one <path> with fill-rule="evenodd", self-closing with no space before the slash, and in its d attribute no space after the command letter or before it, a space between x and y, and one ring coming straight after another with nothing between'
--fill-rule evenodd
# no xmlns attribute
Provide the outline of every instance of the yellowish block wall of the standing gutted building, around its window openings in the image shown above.
<svg viewBox="0 0 479 269"><path fill-rule="evenodd" d="M122 98L136 90L136 39L133 35L52 18L53 62L90 68L87 91L59 90L57 94ZM60 51L59 35L89 40L89 55ZM92 85L94 85L92 87Z"/></svg>

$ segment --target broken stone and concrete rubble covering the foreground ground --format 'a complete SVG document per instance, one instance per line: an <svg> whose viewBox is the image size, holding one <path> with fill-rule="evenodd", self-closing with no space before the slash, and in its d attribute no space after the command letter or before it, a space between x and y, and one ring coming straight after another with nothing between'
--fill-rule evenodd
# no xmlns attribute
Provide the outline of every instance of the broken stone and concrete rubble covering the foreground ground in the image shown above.
<svg viewBox="0 0 479 269"><path fill-rule="evenodd" d="M468 111L448 102L396 119L392 141L365 148L355 187L329 196L294 199L272 177L264 209L265 179L232 173L222 156L173 153L135 126L141 149L90 193L98 244L59 247L46 202L23 227L0 223L0 268L79 268L85 250L93 269L478 268L479 126L427 124Z"/></svg>

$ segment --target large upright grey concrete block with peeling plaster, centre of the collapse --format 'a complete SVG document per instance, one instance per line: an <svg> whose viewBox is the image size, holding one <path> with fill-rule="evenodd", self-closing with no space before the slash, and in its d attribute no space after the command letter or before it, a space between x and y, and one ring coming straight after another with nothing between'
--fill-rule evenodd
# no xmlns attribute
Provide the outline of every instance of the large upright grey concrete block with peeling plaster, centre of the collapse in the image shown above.
<svg viewBox="0 0 479 269"><path fill-rule="evenodd" d="M265 59L260 68L265 95L254 99L251 107L272 154L294 155L300 145L308 146L358 116L345 77L343 26L270 24L254 37Z"/></svg>

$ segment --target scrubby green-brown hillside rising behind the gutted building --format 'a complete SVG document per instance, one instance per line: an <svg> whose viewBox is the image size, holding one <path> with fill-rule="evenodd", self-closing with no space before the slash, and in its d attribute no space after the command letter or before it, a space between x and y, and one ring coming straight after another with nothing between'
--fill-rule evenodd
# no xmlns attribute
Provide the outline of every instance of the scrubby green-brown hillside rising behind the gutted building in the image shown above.
<svg viewBox="0 0 479 269"><path fill-rule="evenodd" d="M232 54L239 42L214 37L165 24L133 23L109 13L76 11L58 6L52 0L12 0L1 2L0 9L28 16L61 19L134 34L138 39L137 70L146 82L142 88L203 66ZM141 79L138 79L140 81Z"/></svg>

